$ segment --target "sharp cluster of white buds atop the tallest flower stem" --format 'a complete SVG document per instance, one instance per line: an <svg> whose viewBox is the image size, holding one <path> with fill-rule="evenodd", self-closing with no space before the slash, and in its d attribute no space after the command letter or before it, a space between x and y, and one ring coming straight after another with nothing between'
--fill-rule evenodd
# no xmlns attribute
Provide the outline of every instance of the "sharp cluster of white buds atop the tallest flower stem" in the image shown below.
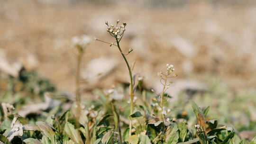
<svg viewBox="0 0 256 144"><path fill-rule="evenodd" d="M108 21L105 20L105 24L108 26L107 31L110 33L110 35L120 39L124 31L126 30L125 29L126 23L123 23L120 27L118 27L118 23L119 23L119 20L117 20L117 24L115 27L113 24L109 25Z"/></svg>

